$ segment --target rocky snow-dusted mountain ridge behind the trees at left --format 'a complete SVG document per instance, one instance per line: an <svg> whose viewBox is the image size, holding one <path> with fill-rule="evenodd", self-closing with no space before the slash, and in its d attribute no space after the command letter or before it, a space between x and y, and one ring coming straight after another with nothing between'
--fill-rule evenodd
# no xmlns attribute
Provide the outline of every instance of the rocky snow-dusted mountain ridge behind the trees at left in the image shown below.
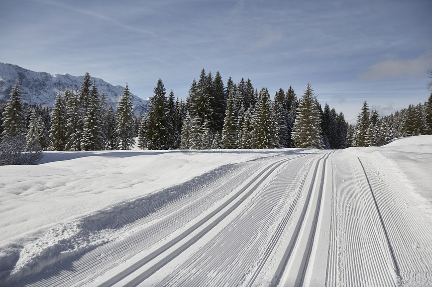
<svg viewBox="0 0 432 287"><path fill-rule="evenodd" d="M83 76L69 74L48 74L34 72L17 65L0 63L0 100L8 100L18 79L22 100L28 104L41 104L52 107L59 92L75 90L81 87ZM104 92L108 105L117 107L125 87L113 86L102 79L93 78L99 92ZM131 93L135 114L145 114L148 111L148 101Z"/></svg>

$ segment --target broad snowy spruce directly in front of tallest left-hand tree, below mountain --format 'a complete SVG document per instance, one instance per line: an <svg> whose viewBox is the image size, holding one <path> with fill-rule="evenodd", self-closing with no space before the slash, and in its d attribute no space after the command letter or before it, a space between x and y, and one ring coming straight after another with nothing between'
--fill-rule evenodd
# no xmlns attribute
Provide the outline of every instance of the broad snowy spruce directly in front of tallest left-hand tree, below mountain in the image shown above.
<svg viewBox="0 0 432 287"><path fill-rule="evenodd" d="M103 134L103 103L99 97L96 84L91 86L86 106L87 112L83 124L81 149L103 150L105 146Z"/></svg>

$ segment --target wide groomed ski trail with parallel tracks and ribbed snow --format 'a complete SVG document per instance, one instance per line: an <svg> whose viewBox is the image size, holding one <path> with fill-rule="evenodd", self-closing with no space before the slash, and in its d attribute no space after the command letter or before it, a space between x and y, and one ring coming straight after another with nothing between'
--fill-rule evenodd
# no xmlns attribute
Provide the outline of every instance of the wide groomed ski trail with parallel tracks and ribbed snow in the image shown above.
<svg viewBox="0 0 432 287"><path fill-rule="evenodd" d="M123 239L8 285L432 285L430 224L403 190L344 151L237 164L133 220L125 211Z"/></svg>

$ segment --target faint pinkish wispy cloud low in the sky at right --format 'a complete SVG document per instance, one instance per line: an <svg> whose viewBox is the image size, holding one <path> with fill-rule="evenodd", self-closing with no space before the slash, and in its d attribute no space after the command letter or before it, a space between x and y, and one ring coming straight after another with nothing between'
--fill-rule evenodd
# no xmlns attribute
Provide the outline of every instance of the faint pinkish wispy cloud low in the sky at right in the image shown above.
<svg viewBox="0 0 432 287"><path fill-rule="evenodd" d="M376 81L382 78L400 79L415 77L424 73L432 66L432 51L413 60L389 59L369 66L366 72L358 75L364 82Z"/></svg>

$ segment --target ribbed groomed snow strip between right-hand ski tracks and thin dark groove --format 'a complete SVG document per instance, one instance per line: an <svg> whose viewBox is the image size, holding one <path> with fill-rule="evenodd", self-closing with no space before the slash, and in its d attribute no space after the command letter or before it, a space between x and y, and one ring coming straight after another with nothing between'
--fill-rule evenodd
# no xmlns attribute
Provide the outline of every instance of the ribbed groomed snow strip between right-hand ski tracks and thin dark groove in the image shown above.
<svg viewBox="0 0 432 287"><path fill-rule="evenodd" d="M334 160L336 218L332 221L338 225L336 240L331 241L337 247L330 248L337 250L337 258L330 257L327 284L395 286L394 263L362 165L346 155Z"/></svg>

